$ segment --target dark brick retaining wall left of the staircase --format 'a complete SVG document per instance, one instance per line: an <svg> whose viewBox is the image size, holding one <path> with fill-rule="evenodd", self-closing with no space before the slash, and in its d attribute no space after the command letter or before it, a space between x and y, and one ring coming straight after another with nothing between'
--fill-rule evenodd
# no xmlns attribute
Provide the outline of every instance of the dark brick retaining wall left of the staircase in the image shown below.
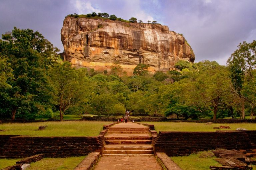
<svg viewBox="0 0 256 170"><path fill-rule="evenodd" d="M6 140L9 138L8 140ZM0 135L0 156L6 158L44 154L45 157L69 157L101 152L104 134L95 137L31 137ZM3 142L3 143L2 143Z"/></svg>

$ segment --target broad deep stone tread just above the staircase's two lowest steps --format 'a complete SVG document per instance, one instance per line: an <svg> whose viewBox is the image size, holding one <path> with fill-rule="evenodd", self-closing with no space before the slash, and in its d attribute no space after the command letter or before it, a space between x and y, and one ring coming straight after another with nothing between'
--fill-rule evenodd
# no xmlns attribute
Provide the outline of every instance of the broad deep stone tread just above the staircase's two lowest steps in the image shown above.
<svg viewBox="0 0 256 170"><path fill-rule="evenodd" d="M147 145L105 145L104 150L153 150L153 146Z"/></svg>

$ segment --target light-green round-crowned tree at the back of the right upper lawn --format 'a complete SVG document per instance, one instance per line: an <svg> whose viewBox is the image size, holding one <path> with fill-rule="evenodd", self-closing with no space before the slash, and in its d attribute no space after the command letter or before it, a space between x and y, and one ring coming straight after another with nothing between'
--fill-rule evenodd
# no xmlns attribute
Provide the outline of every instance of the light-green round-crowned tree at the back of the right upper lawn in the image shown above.
<svg viewBox="0 0 256 170"><path fill-rule="evenodd" d="M228 93L228 71L220 65L203 70L199 71L197 78L191 83L188 103L197 107L198 111L212 111L213 119L216 119L218 109L224 103L223 96Z"/></svg>

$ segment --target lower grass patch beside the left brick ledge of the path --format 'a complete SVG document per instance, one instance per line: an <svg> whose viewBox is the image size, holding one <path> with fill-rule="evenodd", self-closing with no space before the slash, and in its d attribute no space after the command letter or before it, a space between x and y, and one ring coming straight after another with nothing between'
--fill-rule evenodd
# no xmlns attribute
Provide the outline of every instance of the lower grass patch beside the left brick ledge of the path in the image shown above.
<svg viewBox="0 0 256 170"><path fill-rule="evenodd" d="M68 158L44 158L31 163L27 170L70 170L74 169L85 156Z"/></svg>

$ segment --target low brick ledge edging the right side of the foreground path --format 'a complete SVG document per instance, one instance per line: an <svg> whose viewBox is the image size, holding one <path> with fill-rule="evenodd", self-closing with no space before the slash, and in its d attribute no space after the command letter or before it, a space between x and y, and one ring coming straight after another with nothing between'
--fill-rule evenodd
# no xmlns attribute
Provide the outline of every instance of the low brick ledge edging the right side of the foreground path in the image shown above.
<svg viewBox="0 0 256 170"><path fill-rule="evenodd" d="M182 170L173 160L167 156L164 152L155 153L157 161L166 170Z"/></svg>

